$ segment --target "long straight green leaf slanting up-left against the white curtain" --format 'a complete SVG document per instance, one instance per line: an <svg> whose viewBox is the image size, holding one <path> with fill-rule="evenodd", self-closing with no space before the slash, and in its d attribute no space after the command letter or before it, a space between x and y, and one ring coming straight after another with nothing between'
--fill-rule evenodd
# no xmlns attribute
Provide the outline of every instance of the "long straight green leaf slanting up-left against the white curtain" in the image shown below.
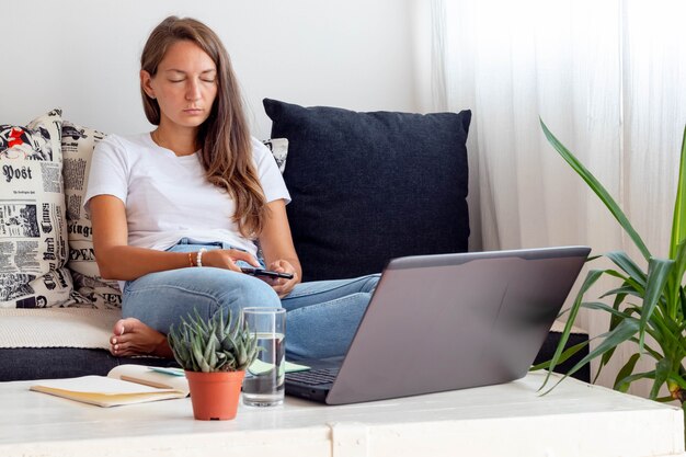
<svg viewBox="0 0 686 457"><path fill-rule="evenodd" d="M609 209L613 216L615 216L615 219L617 219L619 225L625 229L627 235L629 235L629 237L631 238L633 243L638 247L639 251L641 251L645 260L649 260L651 258L651 254L648 248L645 247L645 243L643 243L643 240L641 239L639 233L636 231L631 222L629 222L629 219L624 214L619 205L617 205L617 202L615 202L615 199L611 197L609 192L607 192L607 190L593 175L593 173L591 173L579 161L579 159L576 159L576 157L574 157L574 155L572 155L564 147L564 145L562 145L560 140L558 140L554 137L554 135L552 135L552 133L548 129L544 121L542 119L539 119L539 121L544 129L544 133L546 134L546 138L548 139L548 142L552 145L552 147L558 151L558 153L560 153L560 156L562 156L562 158L567 161L567 163L569 163L572 167L572 169L586 182L586 184L588 184L591 190L598 196L598 198L601 198L601 201L605 204L607 209Z"/></svg>

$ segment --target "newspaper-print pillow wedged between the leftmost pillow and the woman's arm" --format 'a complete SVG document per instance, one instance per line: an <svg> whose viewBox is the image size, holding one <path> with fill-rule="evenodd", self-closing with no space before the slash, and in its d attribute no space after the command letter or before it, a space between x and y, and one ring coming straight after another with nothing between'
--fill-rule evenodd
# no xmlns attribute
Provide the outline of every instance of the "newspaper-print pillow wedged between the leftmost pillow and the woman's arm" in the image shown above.
<svg viewBox="0 0 686 457"><path fill-rule="evenodd" d="M81 203L85 194L91 157L105 134L92 128L62 123L62 156L69 262L73 288L95 308L122 307L122 293L116 281L104 279L95 263L93 229Z"/></svg>

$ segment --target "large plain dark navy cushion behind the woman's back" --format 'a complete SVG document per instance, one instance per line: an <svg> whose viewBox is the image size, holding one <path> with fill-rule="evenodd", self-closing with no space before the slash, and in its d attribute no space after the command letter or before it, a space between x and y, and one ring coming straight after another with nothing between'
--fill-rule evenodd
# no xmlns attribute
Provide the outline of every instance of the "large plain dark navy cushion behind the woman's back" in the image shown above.
<svg viewBox="0 0 686 457"><path fill-rule="evenodd" d="M284 179L304 281L380 272L396 256L464 252L471 113L357 113L264 100L288 139Z"/></svg>

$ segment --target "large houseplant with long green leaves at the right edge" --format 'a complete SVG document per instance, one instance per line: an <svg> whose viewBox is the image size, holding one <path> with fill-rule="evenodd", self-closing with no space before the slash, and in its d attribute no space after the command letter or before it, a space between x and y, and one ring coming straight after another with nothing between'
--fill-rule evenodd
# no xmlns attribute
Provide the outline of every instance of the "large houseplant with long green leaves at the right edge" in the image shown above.
<svg viewBox="0 0 686 457"><path fill-rule="evenodd" d="M549 381L550 373L556 365L588 344L585 342L564 349L579 310L587 308L608 312L610 315L609 328L606 333L597 336L598 344L579 361L567 373L565 377L596 357L601 357L599 374L601 369L611 358L617 346L629 342L633 344L636 352L617 373L615 389L627 391L631 382L639 379L651 379L651 399L659 401L678 400L686 411L686 369L684 368L684 357L686 356L684 338L686 334L686 292L683 285L684 272L686 271L686 170L684 170L686 167L686 128L682 142L670 254L667 259L661 259L650 253L641 237L605 187L550 133L542 121L540 124L548 141L601 198L631 238L648 264L648 270L643 271L627 253L615 251L605 254L614 263L613 267L588 272L576 299L569 309L567 325L554 355L548 363L537 366L537 368L549 368L541 389ZM618 287L607 290L601 297L611 298L611 305L602 301L584 301L588 288L603 276L619 279ZM647 334L652 340L647 341ZM654 368L636 373L637 362L640 357L652 357ZM670 395L660 398L660 389L665 384Z"/></svg>

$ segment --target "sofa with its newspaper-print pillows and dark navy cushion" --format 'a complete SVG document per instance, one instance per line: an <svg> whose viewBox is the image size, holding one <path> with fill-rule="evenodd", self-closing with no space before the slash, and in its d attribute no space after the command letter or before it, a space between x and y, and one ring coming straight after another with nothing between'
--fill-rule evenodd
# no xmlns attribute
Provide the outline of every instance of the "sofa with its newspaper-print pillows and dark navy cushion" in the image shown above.
<svg viewBox="0 0 686 457"><path fill-rule="evenodd" d="M275 138L265 144L293 198L304 281L380 272L396 256L467 251L469 111L357 113L270 99L264 108ZM100 276L82 210L90 157L104 136L60 110L25 126L0 125L0 381L174 365L107 351L121 293ZM560 329L537 362L550 358ZM569 344L583 341L578 330ZM575 377L588 380L588 368Z"/></svg>

